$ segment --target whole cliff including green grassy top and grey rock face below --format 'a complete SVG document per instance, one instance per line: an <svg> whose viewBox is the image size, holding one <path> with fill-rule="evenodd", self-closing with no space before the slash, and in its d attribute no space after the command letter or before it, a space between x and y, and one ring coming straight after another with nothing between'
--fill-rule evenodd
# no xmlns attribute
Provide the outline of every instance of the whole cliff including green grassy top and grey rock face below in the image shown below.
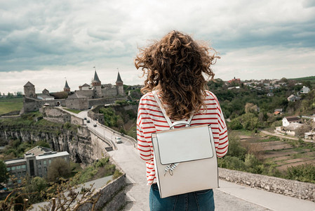
<svg viewBox="0 0 315 211"><path fill-rule="evenodd" d="M36 121L36 117L29 115L1 119L0 139L2 143L8 143L9 139L20 139L29 143L46 141L53 151L67 151L74 162L86 165L94 161L90 132L86 127L69 122L62 124L43 119Z"/></svg>

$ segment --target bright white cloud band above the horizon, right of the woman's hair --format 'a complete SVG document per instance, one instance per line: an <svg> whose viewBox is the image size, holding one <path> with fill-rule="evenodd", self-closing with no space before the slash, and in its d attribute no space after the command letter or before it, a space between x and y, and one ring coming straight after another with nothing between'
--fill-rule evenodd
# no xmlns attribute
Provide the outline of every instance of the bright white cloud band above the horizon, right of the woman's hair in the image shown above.
<svg viewBox="0 0 315 211"><path fill-rule="evenodd" d="M224 80L281 79L314 75L315 49L274 49L272 46L253 47L222 55L213 69L215 77Z"/></svg>

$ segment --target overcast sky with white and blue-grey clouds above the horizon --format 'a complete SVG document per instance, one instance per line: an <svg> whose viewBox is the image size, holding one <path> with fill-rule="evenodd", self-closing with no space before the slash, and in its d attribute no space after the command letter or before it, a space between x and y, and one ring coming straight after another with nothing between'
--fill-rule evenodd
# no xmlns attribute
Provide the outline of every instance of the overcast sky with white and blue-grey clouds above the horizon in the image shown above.
<svg viewBox="0 0 315 211"><path fill-rule="evenodd" d="M224 80L315 75L315 1L0 0L0 92L142 84L138 47L170 30L205 40Z"/></svg>

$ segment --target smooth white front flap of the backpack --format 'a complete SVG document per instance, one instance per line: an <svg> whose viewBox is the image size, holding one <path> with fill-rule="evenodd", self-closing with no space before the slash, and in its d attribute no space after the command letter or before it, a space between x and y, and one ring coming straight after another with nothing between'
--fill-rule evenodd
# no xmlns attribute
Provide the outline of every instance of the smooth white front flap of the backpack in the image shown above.
<svg viewBox="0 0 315 211"><path fill-rule="evenodd" d="M210 133L208 125L156 132L161 165L213 158Z"/></svg>

